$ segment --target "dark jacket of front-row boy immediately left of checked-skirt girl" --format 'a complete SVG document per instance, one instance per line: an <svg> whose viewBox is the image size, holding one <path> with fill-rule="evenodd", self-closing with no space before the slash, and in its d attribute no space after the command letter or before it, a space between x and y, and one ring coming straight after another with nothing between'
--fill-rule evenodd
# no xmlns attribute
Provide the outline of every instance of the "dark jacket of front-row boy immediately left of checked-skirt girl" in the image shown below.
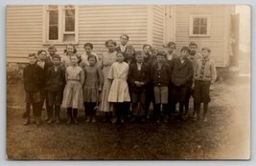
<svg viewBox="0 0 256 166"><path fill-rule="evenodd" d="M57 92L63 91L66 79L65 79L65 70L62 67L58 67L57 72L55 72L55 67L52 66L47 70L47 83L46 90Z"/></svg>

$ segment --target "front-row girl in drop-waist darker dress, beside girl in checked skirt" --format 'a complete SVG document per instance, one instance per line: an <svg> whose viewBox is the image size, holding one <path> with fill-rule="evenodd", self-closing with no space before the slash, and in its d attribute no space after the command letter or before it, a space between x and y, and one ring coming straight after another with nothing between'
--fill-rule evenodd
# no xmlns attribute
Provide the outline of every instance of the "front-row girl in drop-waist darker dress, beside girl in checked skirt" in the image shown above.
<svg viewBox="0 0 256 166"><path fill-rule="evenodd" d="M102 69L97 64L95 55L88 55L89 66L83 68L83 104L85 109L85 122L96 122L96 108L99 102L99 93L102 91L104 76Z"/></svg>

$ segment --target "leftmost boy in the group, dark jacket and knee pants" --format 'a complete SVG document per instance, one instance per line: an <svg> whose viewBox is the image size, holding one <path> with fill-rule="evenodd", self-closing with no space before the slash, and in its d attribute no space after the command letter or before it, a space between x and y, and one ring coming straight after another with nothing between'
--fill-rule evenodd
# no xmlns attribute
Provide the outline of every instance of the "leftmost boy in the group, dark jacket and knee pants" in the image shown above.
<svg viewBox="0 0 256 166"><path fill-rule="evenodd" d="M39 125L40 122L40 89L42 86L42 69L35 65L36 62L36 54L29 54L29 62L23 69L23 80L24 80L24 90L26 92L26 114L27 119L24 125L28 125L31 123L30 121L30 112L31 112L31 104L33 106L33 113L35 116L35 124Z"/></svg>

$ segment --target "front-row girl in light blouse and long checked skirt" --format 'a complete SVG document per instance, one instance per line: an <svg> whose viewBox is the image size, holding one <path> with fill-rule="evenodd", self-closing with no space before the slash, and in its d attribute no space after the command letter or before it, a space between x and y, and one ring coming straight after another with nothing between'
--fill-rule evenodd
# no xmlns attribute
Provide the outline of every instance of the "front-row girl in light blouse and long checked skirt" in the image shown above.
<svg viewBox="0 0 256 166"><path fill-rule="evenodd" d="M66 68L66 86L63 94L62 106L67 108L67 124L70 124L72 118L74 123L78 123L78 109L82 108L82 85L84 82L84 73L78 65L79 56L72 54L70 56L71 66Z"/></svg>

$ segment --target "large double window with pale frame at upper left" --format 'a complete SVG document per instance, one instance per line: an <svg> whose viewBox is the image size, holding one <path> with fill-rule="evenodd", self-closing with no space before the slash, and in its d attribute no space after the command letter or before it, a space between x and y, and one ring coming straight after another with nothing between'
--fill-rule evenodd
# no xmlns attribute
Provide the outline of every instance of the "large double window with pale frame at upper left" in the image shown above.
<svg viewBox="0 0 256 166"><path fill-rule="evenodd" d="M44 23L44 43L78 43L78 9L74 5L45 6Z"/></svg>

